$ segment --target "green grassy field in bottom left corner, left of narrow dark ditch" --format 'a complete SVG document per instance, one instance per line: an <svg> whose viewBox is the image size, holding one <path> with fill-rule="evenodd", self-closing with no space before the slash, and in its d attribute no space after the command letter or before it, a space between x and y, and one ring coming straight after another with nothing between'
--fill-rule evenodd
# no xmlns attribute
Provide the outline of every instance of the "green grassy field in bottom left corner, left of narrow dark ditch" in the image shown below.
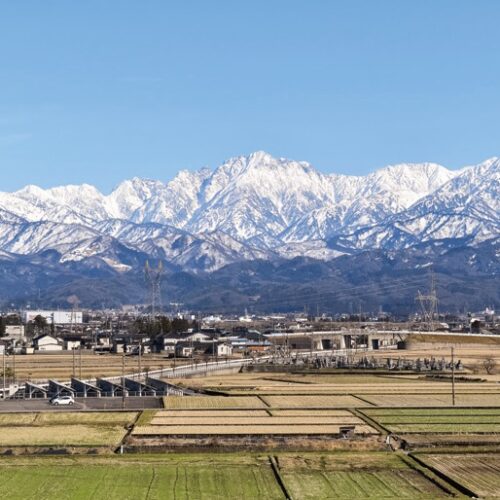
<svg viewBox="0 0 500 500"><path fill-rule="evenodd" d="M52 499L282 499L267 457L0 458L1 496Z"/></svg>

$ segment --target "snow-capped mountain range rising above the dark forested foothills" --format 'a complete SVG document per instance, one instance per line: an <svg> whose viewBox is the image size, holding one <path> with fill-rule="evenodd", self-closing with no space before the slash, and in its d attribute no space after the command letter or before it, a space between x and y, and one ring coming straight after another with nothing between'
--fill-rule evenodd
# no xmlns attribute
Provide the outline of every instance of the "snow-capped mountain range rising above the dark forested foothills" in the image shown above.
<svg viewBox="0 0 500 500"><path fill-rule="evenodd" d="M170 182L134 178L105 195L90 185L0 193L0 258L47 250L61 262L128 250L188 271L244 260L422 243L474 246L500 234L500 159L461 170L400 164L366 176L323 174L264 152Z"/></svg>

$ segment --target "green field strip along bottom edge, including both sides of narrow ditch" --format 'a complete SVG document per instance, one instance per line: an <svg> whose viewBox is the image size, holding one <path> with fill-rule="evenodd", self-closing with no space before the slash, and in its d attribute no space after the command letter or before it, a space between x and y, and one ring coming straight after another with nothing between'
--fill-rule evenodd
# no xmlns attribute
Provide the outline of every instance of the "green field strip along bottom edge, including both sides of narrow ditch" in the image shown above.
<svg viewBox="0 0 500 500"><path fill-rule="evenodd" d="M390 453L0 457L13 500L446 498L450 490Z"/></svg>

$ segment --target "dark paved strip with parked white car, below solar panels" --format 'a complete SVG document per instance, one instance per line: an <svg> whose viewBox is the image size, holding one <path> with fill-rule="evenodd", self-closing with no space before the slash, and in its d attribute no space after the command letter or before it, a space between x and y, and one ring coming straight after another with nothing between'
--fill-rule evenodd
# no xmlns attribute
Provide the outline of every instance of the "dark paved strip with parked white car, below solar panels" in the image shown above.
<svg viewBox="0 0 500 500"><path fill-rule="evenodd" d="M125 406L122 398L77 398L72 406L52 406L47 399L6 399L0 401L0 413L29 411L85 411L85 410L143 410L162 408L161 398L128 397Z"/></svg>

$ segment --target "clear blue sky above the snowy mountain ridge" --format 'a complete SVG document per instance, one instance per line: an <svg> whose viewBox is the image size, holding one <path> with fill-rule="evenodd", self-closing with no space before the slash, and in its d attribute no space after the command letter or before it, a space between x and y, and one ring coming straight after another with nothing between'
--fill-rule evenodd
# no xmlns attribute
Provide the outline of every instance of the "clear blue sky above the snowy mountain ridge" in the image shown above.
<svg viewBox="0 0 500 500"><path fill-rule="evenodd" d="M0 190L255 150L363 174L500 155L500 2L0 0Z"/></svg>

